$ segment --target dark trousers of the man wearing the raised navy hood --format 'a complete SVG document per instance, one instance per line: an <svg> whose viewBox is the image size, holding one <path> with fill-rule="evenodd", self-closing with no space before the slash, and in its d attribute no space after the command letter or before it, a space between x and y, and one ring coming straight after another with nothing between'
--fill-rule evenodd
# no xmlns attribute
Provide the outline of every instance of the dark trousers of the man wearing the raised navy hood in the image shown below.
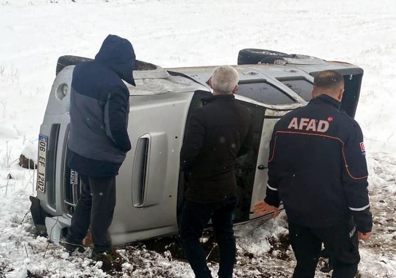
<svg viewBox="0 0 396 278"><path fill-rule="evenodd" d="M81 244L91 225L94 251L111 250L108 233L115 207L115 177L89 178L81 176L82 192L67 234L68 242Z"/></svg>

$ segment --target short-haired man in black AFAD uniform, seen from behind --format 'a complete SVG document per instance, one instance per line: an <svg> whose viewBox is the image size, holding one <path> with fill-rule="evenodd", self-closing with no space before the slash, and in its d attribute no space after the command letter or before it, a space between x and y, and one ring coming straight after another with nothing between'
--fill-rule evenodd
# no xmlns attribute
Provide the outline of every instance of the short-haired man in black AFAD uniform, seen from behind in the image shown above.
<svg viewBox="0 0 396 278"><path fill-rule="evenodd" d="M331 70L314 79L313 99L284 116L270 143L268 185L254 211L279 214L284 203L297 266L293 278L313 278L324 242L333 278L353 278L358 239L371 236L363 135L340 112L344 79Z"/></svg>

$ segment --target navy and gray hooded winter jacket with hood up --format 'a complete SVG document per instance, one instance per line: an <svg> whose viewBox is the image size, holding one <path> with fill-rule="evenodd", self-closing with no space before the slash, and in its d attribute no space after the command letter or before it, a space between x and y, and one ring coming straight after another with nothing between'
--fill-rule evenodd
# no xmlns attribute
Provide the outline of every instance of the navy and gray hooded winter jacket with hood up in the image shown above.
<svg viewBox="0 0 396 278"><path fill-rule="evenodd" d="M135 85L131 43L109 35L94 61L75 66L70 95L68 166L81 175L111 177L131 149L129 91Z"/></svg>

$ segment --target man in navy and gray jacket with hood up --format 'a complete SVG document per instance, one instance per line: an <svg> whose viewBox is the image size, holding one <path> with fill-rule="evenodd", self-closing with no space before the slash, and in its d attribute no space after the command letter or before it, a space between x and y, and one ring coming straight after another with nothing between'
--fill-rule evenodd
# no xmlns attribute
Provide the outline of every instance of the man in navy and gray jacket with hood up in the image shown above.
<svg viewBox="0 0 396 278"><path fill-rule="evenodd" d="M67 163L80 175L82 192L67 235L68 250L82 245L91 226L93 255L111 251L115 176L131 149L129 91L122 80L135 86L135 58L128 40L109 35L94 61L74 68Z"/></svg>

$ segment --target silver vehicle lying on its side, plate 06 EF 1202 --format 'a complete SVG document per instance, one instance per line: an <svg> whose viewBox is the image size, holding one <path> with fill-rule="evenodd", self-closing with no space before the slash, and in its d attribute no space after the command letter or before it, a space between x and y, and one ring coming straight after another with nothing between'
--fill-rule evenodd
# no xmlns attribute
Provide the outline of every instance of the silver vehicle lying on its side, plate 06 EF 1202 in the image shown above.
<svg viewBox="0 0 396 278"><path fill-rule="evenodd" d="M88 58L62 56L40 129L37 197L31 197L37 232L55 241L70 225L79 198L78 173L66 164L69 97L74 65ZM265 195L269 139L275 123L310 100L314 76L333 69L344 76L341 109L354 116L363 70L345 62L243 49L238 57L237 101L254 117L253 150L236 163L239 204L234 222L258 219L251 212ZM117 176L117 204L110 233L114 244L176 233L185 180L179 153L191 111L210 95L214 67L162 69L138 61L136 87L128 86L132 150ZM264 216L267 217L268 216Z"/></svg>

